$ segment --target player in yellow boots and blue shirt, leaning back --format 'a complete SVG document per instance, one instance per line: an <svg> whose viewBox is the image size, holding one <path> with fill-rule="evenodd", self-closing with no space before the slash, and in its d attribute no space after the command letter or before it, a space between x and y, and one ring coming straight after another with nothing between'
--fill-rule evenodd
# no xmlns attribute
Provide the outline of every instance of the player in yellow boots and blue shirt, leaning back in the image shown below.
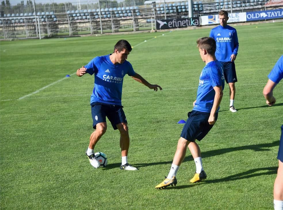
<svg viewBox="0 0 283 210"><path fill-rule="evenodd" d="M194 183L206 178L200 148L195 140L202 140L215 124L225 83L223 66L215 58L215 40L211 37L203 37L198 39L197 44L200 57L206 65L200 73L197 96L193 102L194 108L188 113L169 174L155 187L156 189L177 184L176 174L185 158L187 147L196 164L196 173L190 182Z"/></svg>

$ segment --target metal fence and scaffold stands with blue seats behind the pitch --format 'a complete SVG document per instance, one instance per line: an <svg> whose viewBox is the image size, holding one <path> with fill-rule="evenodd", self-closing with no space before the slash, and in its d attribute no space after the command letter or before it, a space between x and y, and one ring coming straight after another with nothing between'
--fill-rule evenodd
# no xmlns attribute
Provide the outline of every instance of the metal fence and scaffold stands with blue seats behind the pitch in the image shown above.
<svg viewBox="0 0 283 210"><path fill-rule="evenodd" d="M217 14L221 9L243 12L265 9L266 0L225 1L72 1L0 6L0 39L74 36L79 34L116 33L155 30L156 19L198 17ZM32 16L32 17L30 17ZM29 18L27 18L29 17ZM37 22L39 20L39 22ZM152 22L154 20L154 22ZM39 26L38 26L39 25Z"/></svg>

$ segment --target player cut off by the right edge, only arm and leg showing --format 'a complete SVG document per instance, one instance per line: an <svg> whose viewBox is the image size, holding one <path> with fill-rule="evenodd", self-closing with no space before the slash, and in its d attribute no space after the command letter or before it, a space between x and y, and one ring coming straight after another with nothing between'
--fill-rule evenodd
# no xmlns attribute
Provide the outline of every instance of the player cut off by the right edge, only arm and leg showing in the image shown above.
<svg viewBox="0 0 283 210"><path fill-rule="evenodd" d="M283 78L283 56L276 62L274 68L268 75L268 81L263 89L263 95L268 106L275 104L276 99L273 96L273 89ZM281 113L282 114L282 113ZM278 171L274 182L274 209L283 210L283 125L281 126L281 138L278 150Z"/></svg>

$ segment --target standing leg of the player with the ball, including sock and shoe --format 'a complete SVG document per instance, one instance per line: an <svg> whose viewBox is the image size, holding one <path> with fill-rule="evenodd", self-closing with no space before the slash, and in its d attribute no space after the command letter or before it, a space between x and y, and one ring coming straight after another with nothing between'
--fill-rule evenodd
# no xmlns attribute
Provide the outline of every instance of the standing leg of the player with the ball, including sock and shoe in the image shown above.
<svg viewBox="0 0 283 210"><path fill-rule="evenodd" d="M125 164L121 164L120 169L128 170L128 171L138 170L136 167L133 167L128 163L130 136L129 136L129 129L127 123L119 123L116 126L120 132L120 147L122 154L122 162L125 162Z"/></svg>

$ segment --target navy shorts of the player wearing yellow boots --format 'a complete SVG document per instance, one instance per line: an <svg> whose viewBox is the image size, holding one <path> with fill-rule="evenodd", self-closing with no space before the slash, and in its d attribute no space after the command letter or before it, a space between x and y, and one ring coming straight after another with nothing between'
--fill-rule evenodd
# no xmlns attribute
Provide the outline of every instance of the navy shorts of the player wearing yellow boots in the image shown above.
<svg viewBox="0 0 283 210"><path fill-rule="evenodd" d="M202 140L210 131L213 125L208 123L210 112L199 112L192 110L188 113L188 119L181 132L181 137L194 142ZM218 112L215 114L215 122L217 121Z"/></svg>

